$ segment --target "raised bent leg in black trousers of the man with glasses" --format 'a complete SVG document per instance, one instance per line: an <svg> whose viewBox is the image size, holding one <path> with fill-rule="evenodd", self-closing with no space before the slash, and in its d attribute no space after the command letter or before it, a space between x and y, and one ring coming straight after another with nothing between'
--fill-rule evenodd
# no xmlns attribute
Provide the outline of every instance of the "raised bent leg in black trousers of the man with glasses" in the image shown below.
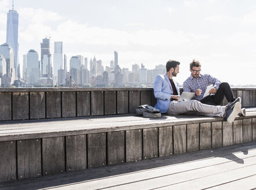
<svg viewBox="0 0 256 190"><path fill-rule="evenodd" d="M219 85L219 89L212 98L216 105L221 105L222 101L224 100L224 97L226 97L229 103L232 103L236 99L229 86L229 83L226 82L222 82Z"/></svg>

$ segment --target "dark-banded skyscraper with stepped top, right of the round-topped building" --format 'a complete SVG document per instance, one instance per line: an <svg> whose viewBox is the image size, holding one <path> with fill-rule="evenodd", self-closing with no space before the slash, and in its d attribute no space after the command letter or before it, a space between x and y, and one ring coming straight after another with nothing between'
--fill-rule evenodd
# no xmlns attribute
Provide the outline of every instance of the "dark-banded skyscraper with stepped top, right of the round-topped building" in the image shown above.
<svg viewBox="0 0 256 190"><path fill-rule="evenodd" d="M41 76L51 77L52 55L50 53L50 38L44 38L41 43Z"/></svg>

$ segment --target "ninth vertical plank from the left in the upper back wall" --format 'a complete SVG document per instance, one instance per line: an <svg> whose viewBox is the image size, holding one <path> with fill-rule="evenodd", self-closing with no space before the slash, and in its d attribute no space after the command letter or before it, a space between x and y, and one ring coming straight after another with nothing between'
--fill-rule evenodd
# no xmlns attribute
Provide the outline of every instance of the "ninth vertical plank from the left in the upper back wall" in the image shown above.
<svg viewBox="0 0 256 190"><path fill-rule="evenodd" d="M128 91L117 92L117 114L128 114L129 112L129 101Z"/></svg>

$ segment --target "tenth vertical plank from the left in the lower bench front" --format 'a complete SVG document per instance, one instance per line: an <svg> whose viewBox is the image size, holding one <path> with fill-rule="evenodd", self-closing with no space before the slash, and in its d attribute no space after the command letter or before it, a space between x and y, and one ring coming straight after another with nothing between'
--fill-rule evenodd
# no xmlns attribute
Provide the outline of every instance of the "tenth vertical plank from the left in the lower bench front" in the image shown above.
<svg viewBox="0 0 256 190"><path fill-rule="evenodd" d="M182 154L187 151L186 125L173 126L174 129L174 154Z"/></svg>

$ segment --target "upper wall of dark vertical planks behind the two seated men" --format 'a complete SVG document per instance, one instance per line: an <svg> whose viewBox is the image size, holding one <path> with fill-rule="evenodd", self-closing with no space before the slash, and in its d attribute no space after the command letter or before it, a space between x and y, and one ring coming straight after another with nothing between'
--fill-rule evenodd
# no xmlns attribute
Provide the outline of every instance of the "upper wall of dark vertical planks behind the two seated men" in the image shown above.
<svg viewBox="0 0 256 190"><path fill-rule="evenodd" d="M243 107L255 106L255 89L233 93ZM156 104L152 88L0 89L0 120L131 114L143 104Z"/></svg>

